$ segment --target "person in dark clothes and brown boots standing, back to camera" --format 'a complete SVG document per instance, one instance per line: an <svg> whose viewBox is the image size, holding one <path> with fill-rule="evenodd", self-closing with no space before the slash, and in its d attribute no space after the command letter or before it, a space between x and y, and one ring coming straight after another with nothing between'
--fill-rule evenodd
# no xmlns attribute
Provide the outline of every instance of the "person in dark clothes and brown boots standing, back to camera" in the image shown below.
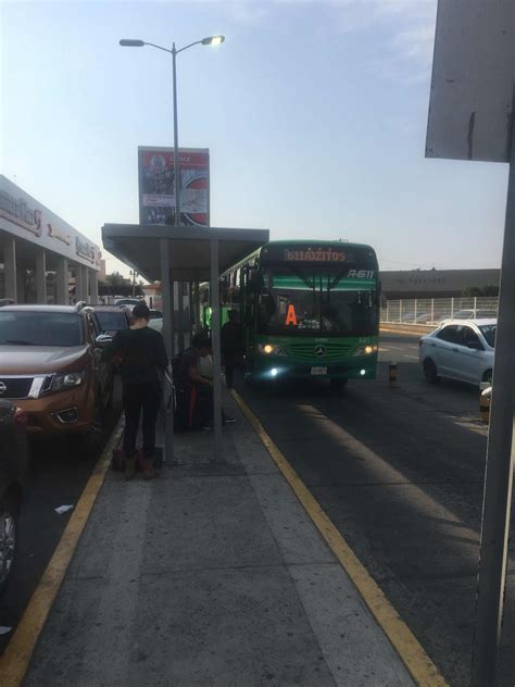
<svg viewBox="0 0 515 687"><path fill-rule="evenodd" d="M148 326L150 310L145 302L133 310L133 325L116 332L102 353L103 360L120 360L123 385L125 429L123 450L125 477L136 472L136 439L143 415L143 479L158 473L153 467L155 423L161 407L161 378L168 369L162 335Z"/></svg>

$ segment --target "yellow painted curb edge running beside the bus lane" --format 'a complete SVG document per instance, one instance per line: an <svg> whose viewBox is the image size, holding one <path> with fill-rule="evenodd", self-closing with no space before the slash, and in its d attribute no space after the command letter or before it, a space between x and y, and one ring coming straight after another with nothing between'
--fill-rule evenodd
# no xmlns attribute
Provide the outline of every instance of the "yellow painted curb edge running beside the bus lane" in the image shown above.
<svg viewBox="0 0 515 687"><path fill-rule="evenodd" d="M281 451L274 444L263 425L250 410L240 395L231 389L231 394L242 413L252 425L261 441L272 455L277 467L292 488L307 515L318 532L327 541L332 553L347 572L354 586L361 594L372 614L382 628L385 635L399 653L409 673L420 687L448 687L448 683L438 667L427 655L407 625L399 617L398 612L388 601L382 590L370 577L365 566L360 562L346 539L338 532L321 504L311 494Z"/></svg>

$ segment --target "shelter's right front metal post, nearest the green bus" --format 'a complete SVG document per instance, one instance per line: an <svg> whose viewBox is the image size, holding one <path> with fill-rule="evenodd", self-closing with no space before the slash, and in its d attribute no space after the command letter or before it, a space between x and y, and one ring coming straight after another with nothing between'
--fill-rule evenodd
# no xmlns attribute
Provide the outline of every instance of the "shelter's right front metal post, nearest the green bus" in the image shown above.
<svg viewBox="0 0 515 687"><path fill-rule="evenodd" d="M219 266L218 241L210 239L211 245L211 310L213 338L213 412L214 412L214 460L225 462L222 454L222 388L221 388L221 345L219 345Z"/></svg>

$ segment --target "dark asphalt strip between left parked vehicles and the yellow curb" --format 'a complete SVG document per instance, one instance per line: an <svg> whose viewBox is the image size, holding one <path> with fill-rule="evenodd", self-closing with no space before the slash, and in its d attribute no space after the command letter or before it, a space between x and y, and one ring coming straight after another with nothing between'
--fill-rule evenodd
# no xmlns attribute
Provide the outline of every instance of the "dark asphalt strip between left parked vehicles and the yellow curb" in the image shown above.
<svg viewBox="0 0 515 687"><path fill-rule="evenodd" d="M20 520L17 566L5 595L0 599L0 625L12 627L12 630L0 635L0 652L13 636L72 514L68 511L59 515L54 509L78 501L121 410L121 389L116 384L113 412L106 419L102 446L89 455L73 452L70 442L64 439L30 441L30 463Z"/></svg>

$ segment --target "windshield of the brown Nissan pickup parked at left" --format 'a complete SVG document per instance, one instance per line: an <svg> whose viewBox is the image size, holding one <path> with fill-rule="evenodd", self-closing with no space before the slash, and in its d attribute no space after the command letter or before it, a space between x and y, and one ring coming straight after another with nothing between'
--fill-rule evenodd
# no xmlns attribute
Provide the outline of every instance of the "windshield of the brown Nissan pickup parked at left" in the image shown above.
<svg viewBox="0 0 515 687"><path fill-rule="evenodd" d="M0 312L0 346L80 346L83 324L75 313Z"/></svg>

